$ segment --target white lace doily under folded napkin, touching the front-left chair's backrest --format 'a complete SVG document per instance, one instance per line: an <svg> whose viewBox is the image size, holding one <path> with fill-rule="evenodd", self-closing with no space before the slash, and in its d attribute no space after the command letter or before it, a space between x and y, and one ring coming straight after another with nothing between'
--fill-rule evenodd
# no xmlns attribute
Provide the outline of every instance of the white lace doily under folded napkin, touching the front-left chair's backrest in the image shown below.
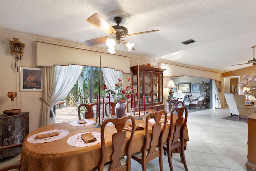
<svg viewBox="0 0 256 171"><path fill-rule="evenodd" d="M68 138L67 143L68 145L74 146L74 147L87 147L91 145L96 145L97 143L100 143L100 132L91 132L92 135L94 135L97 140L95 142L85 143L82 140L81 135L86 134L88 132L78 133L70 138Z"/></svg>

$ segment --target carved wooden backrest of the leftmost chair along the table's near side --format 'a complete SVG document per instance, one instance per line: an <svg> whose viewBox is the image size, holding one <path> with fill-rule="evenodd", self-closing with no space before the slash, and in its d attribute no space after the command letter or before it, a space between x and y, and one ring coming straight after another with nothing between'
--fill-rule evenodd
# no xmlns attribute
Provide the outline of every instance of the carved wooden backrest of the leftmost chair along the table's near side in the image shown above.
<svg viewBox="0 0 256 171"><path fill-rule="evenodd" d="M126 131L123 130L125 123L127 120L132 121L132 130L130 133L130 138L126 146L126 165L121 165L120 162L120 156L121 156L121 148L125 143L126 140ZM127 170L130 171L131 168L131 160L132 160L132 140L134 137L134 132L135 132L135 120L132 116L124 116L122 118L106 118L101 125L101 130L100 130L100 141L101 141L101 159L98 164L98 170L103 171L104 164L106 163L106 144L105 144L105 126L109 122L112 122L115 125L116 132L113 133L112 135L112 147L113 147L113 152L110 156L111 158L111 163L109 170L115 169L115 171L118 170ZM109 129L108 129L109 132Z"/></svg>

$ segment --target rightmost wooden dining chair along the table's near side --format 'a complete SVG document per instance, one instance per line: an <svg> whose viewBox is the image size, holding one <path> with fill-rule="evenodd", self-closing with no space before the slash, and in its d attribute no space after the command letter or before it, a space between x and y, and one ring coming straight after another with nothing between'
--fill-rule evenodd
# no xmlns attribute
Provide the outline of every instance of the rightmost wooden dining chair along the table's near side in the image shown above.
<svg viewBox="0 0 256 171"><path fill-rule="evenodd" d="M185 111L185 114L184 114ZM177 112L178 118L173 121L173 114L174 112ZM184 118L182 117L184 114ZM188 171L188 167L186 165L186 160L185 160L185 140L184 140L184 132L185 132L185 127L188 119L188 110L185 106L182 106L181 108L173 108L171 111L171 116L170 116L171 123L175 122L175 127L170 126L167 142L164 143L164 155L168 155L168 162L170 166L170 170L173 171L172 167L172 150L180 147L180 159L181 162L183 163L186 171Z"/></svg>

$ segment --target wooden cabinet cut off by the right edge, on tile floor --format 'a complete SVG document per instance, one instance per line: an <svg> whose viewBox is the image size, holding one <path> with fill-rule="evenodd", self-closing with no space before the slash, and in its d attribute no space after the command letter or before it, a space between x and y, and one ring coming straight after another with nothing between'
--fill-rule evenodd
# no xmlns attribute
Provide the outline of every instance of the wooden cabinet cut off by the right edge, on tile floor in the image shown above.
<svg viewBox="0 0 256 171"><path fill-rule="evenodd" d="M256 171L256 113L248 116L247 171Z"/></svg>

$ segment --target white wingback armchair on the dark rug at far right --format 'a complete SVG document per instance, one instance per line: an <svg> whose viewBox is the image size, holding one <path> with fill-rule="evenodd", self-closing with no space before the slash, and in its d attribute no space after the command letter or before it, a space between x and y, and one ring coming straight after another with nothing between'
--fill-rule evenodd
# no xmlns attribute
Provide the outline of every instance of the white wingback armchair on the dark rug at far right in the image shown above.
<svg viewBox="0 0 256 171"><path fill-rule="evenodd" d="M245 95L224 93L224 96L230 110L230 117L235 114L238 115L238 120L240 120L240 116L249 116L255 113L256 108L254 106L245 105Z"/></svg>

